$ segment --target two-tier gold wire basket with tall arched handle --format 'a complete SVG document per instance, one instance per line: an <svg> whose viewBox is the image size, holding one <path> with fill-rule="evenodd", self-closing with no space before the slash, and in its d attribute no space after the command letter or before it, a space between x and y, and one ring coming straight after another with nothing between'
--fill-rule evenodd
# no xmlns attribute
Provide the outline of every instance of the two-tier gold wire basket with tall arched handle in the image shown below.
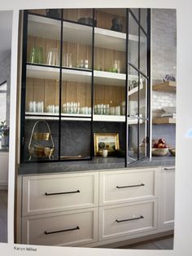
<svg viewBox="0 0 192 256"><path fill-rule="evenodd" d="M39 122L44 122L47 126L47 129L49 132L35 132L35 127L37 126L37 124ZM33 144L32 145L32 141L51 141L51 146L43 146L40 143L37 144ZM54 144L54 140L53 137L51 135L50 132L50 126L48 125L48 123L44 120L39 120L36 121L35 124L33 125L33 129L32 129L32 133L31 133L31 137L28 143L28 152L29 152L29 158L28 161L30 161L32 159L32 157L49 157L49 159L51 159L51 157L54 156L54 152L55 152L55 144Z"/></svg>

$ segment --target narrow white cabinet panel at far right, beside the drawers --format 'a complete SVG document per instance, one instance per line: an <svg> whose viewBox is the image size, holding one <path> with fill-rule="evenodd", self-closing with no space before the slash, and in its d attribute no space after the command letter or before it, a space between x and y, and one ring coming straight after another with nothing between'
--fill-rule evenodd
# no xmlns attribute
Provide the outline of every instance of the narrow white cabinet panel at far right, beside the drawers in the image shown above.
<svg viewBox="0 0 192 256"><path fill-rule="evenodd" d="M160 227L173 227L175 207L175 168L162 168L159 219Z"/></svg>

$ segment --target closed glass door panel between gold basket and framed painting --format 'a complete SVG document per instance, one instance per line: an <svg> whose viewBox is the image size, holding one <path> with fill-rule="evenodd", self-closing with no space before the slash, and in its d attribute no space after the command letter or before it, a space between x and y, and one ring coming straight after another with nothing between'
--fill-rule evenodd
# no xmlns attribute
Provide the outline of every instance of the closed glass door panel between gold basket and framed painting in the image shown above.
<svg viewBox="0 0 192 256"><path fill-rule="evenodd" d="M92 17L90 9L63 10L61 160L91 157Z"/></svg>

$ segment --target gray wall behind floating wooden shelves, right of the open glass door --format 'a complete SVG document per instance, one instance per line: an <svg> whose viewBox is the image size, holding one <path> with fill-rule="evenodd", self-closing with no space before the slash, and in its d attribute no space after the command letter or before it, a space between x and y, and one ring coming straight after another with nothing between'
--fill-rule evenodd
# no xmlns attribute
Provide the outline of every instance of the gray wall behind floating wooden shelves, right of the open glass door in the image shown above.
<svg viewBox="0 0 192 256"><path fill-rule="evenodd" d="M163 82L166 74L177 75L177 16L176 10L152 10L152 82ZM153 91L152 114L158 117L164 107L176 107L176 94ZM152 138L166 139L175 146L175 125L153 125Z"/></svg>

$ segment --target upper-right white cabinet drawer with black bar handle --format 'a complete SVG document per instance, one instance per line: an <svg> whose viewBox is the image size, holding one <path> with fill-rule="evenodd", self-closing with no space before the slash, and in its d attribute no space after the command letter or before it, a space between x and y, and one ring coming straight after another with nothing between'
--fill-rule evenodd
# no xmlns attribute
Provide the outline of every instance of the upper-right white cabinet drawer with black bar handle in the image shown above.
<svg viewBox="0 0 192 256"><path fill-rule="evenodd" d="M158 193L159 168L117 170L100 174L100 205L151 199Z"/></svg>

